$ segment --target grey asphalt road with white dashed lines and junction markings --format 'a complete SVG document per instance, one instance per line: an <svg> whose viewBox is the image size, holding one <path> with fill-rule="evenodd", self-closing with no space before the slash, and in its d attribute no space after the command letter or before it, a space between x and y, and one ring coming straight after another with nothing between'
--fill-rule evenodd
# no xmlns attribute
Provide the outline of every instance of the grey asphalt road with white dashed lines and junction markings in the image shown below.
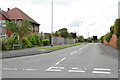
<svg viewBox="0 0 120 80"><path fill-rule="evenodd" d="M3 78L118 78L118 59L103 55L100 43L47 54L3 59ZM114 48L111 48L114 49Z"/></svg>

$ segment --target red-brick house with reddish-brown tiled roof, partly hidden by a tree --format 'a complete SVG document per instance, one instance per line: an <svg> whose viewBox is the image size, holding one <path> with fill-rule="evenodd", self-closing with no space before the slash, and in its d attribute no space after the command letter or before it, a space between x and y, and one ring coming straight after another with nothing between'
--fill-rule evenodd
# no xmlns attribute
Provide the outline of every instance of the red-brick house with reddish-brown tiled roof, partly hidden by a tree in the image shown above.
<svg viewBox="0 0 120 80"><path fill-rule="evenodd" d="M27 19L31 22L32 30L29 33L39 32L40 24L29 17L26 13L21 11L19 8L9 9L7 11L3 11L0 9L0 36L5 37L6 35L10 36L12 32L6 27L5 23L7 20L16 20L20 21L23 19Z"/></svg>

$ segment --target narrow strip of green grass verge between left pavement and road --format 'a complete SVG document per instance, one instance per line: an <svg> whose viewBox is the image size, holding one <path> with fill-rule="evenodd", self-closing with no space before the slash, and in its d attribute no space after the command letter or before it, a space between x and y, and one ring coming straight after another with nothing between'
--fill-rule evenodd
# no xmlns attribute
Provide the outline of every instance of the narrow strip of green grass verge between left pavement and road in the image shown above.
<svg viewBox="0 0 120 80"><path fill-rule="evenodd" d="M41 48L41 49L57 50L57 49L62 49L62 48L71 47L71 46L76 46L76 45L81 45L81 44L86 44L86 43L75 43L75 44L68 44L68 45L60 45L60 46L46 47L46 48Z"/></svg>

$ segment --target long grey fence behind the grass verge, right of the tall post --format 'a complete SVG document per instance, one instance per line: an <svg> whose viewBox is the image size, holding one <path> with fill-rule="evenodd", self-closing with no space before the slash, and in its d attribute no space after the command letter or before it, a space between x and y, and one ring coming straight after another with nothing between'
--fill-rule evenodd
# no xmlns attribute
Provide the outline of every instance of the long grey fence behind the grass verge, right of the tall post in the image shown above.
<svg viewBox="0 0 120 80"><path fill-rule="evenodd" d="M76 39L53 37L53 45L73 44L75 42L76 42Z"/></svg>

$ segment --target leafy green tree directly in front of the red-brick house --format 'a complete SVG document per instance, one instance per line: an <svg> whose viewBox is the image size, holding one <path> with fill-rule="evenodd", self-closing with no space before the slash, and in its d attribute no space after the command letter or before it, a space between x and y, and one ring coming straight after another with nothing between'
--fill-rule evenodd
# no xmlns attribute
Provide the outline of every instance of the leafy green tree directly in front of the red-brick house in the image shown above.
<svg viewBox="0 0 120 80"><path fill-rule="evenodd" d="M20 36L20 38L22 38L29 31L31 31L30 21L25 19L20 20L18 22L16 20L10 20L10 21L7 21L5 24L7 28L10 29L11 32L17 33Z"/></svg>

